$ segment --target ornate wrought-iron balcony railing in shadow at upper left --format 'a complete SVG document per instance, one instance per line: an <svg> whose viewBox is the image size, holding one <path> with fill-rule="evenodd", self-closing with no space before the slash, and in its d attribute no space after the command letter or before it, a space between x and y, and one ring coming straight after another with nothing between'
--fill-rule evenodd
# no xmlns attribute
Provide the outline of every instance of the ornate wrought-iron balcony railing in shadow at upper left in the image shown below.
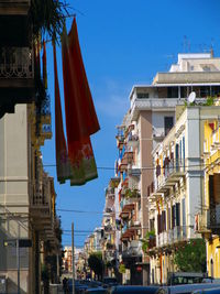
<svg viewBox="0 0 220 294"><path fill-rule="evenodd" d="M0 79L33 79L33 51L29 47L0 48Z"/></svg>

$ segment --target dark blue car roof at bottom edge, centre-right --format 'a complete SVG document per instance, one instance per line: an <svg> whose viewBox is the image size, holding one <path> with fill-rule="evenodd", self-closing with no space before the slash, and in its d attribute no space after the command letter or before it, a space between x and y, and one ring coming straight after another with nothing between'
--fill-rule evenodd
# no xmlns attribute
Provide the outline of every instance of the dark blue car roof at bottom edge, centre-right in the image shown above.
<svg viewBox="0 0 220 294"><path fill-rule="evenodd" d="M110 294L157 294L160 286L113 286Z"/></svg>

